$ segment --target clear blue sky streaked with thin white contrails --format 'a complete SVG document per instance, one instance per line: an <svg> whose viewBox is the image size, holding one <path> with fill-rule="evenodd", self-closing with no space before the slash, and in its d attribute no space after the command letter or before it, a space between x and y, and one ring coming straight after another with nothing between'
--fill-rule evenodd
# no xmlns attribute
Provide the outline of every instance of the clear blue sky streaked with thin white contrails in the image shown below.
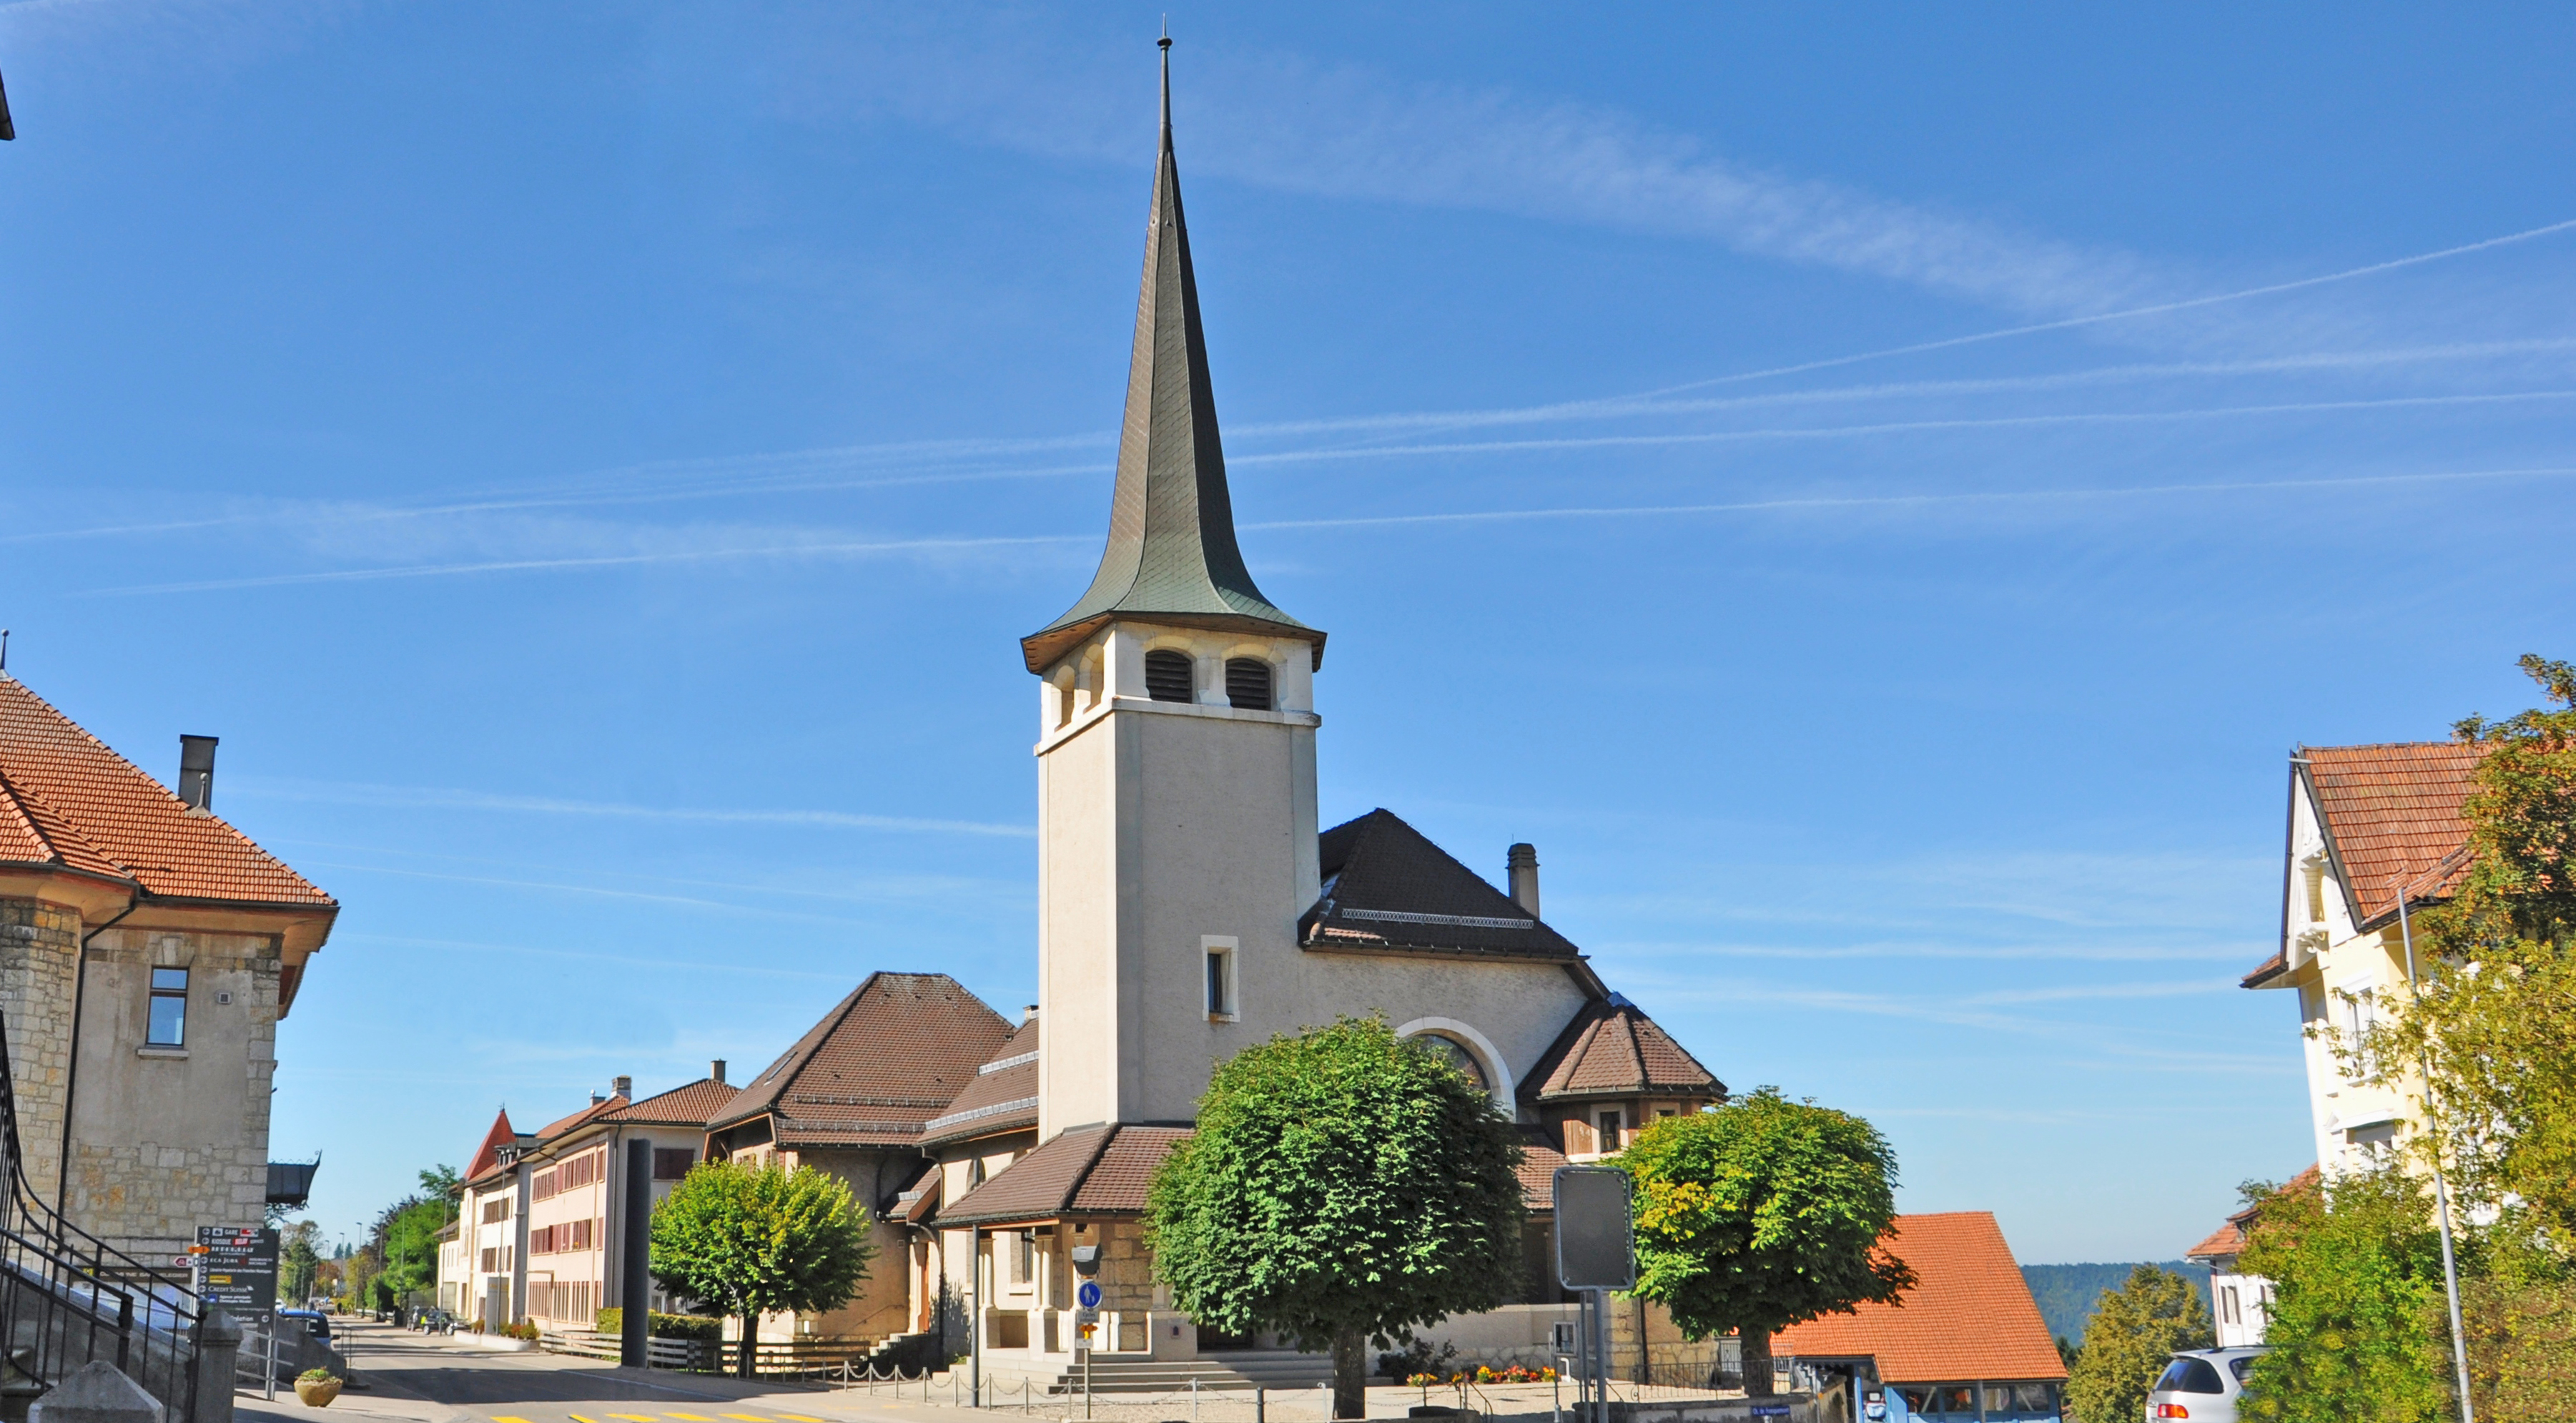
<svg viewBox="0 0 2576 1423"><path fill-rule="evenodd" d="M1015 639L1108 508L1162 8L0 3L0 624L343 920L350 1232L868 969L1033 998ZM2311 1160L2293 742L2568 655L2576 18L1172 10L1327 822L1499 876L1906 1209Z"/></svg>

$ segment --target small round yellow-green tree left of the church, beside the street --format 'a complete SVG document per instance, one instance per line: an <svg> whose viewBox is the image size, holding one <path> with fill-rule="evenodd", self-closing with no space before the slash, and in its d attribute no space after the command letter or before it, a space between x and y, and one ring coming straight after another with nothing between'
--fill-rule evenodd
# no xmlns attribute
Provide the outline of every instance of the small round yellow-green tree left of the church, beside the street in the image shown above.
<svg viewBox="0 0 2576 1423"><path fill-rule="evenodd" d="M757 1371L760 1315L840 1310L873 1258L868 1209L811 1165L701 1163L652 1212L652 1276L742 1317L744 1379Z"/></svg>

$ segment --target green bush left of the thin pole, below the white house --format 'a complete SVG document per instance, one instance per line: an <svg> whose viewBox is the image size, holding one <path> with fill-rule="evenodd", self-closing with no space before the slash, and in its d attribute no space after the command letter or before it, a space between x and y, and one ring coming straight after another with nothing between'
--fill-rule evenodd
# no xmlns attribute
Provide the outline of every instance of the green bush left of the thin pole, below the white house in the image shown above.
<svg viewBox="0 0 2576 1423"><path fill-rule="evenodd" d="M2455 1418L2442 1245L2421 1181L2391 1165L2254 1199L2239 1268L2275 1286L2272 1348L2239 1413L2264 1423Z"/></svg>

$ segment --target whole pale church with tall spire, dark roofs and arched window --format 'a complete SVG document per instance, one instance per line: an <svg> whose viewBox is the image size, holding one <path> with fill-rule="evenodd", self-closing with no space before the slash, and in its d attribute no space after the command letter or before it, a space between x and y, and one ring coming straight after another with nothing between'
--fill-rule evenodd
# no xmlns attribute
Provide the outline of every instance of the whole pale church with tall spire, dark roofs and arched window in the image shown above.
<svg viewBox="0 0 2576 1423"><path fill-rule="evenodd" d="M1072 1361L1077 1245L1100 1248L1103 1361L1257 1343L1172 1312L1139 1217L1213 1065L1273 1034L1381 1016L1520 1121L1522 1302L1430 1330L1497 1364L1546 1361L1548 1325L1571 1317L1551 1170L1726 1098L1543 918L1530 846L1497 846L1497 887L1394 812L1319 822L1324 642L1236 547L1167 49L1108 547L1072 608L1020 639L1038 681L1038 1003L958 1034L992 1049L914 1137L933 1165L889 1212L907 1240L878 1266L907 1261L912 1328L971 1320L984 1377ZM1623 1325L1677 1346L1664 1320Z"/></svg>

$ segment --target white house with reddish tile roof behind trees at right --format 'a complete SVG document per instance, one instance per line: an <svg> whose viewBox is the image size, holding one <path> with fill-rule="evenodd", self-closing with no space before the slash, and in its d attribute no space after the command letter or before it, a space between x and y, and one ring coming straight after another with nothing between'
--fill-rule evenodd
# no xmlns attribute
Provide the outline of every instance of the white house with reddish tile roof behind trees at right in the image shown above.
<svg viewBox="0 0 2576 1423"><path fill-rule="evenodd" d="M2478 742L2313 745L2290 758L2280 949L2244 977L2287 990L2306 1031L2316 1163L2334 1176L2391 1160L2414 1132L2421 1078L2398 1065L2367 1083L2349 1057L2409 992L2409 913L2450 897L2468 869L2460 802ZM2339 1052L2342 1049L2342 1052Z"/></svg>

